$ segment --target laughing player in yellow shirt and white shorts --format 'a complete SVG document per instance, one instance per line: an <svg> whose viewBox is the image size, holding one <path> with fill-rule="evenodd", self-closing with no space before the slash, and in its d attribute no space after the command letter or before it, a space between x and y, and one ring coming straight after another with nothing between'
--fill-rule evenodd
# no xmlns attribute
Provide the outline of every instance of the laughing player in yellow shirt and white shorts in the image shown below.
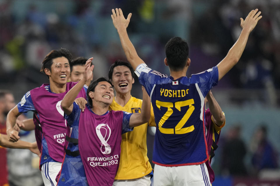
<svg viewBox="0 0 280 186"><path fill-rule="evenodd" d="M108 77L113 83L116 96L109 110L130 113L141 112L142 100L132 97L130 91L134 83L134 70L128 62L116 60L111 65ZM122 134L120 165L113 183L118 185L150 185L152 166L147 157L147 127L155 126L151 108L148 123L134 127L132 132Z"/></svg>

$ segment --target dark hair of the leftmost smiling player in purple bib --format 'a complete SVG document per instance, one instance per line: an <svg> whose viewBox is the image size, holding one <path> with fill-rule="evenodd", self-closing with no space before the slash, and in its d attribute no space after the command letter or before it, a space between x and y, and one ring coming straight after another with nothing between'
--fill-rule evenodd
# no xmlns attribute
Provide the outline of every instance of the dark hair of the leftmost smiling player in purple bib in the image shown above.
<svg viewBox="0 0 280 186"><path fill-rule="evenodd" d="M68 60L69 65L71 67L72 54L69 52L69 50L60 48L59 50L52 50L52 51L50 51L50 53L48 53L46 55L45 59L42 62L43 66L42 66L40 72L45 73L45 70L44 70L45 68L47 68L51 71L51 66L53 65L53 59L59 58L59 57L65 57ZM50 77L48 76L48 78L50 78Z"/></svg>

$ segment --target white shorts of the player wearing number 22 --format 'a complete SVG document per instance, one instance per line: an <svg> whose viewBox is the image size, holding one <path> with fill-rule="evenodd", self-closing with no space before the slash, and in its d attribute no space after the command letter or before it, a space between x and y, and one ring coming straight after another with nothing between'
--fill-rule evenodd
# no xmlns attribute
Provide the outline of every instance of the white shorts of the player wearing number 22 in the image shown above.
<svg viewBox="0 0 280 186"><path fill-rule="evenodd" d="M154 186L211 186L205 163L178 167L155 164Z"/></svg>

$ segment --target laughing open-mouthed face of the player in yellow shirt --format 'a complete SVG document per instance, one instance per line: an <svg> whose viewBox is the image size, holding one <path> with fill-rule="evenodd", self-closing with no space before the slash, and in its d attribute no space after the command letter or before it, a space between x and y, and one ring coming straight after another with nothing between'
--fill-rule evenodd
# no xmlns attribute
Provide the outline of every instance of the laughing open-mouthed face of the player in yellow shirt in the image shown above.
<svg viewBox="0 0 280 186"><path fill-rule="evenodd" d="M134 78L127 66L120 65L113 69L112 83L117 94L130 94Z"/></svg>

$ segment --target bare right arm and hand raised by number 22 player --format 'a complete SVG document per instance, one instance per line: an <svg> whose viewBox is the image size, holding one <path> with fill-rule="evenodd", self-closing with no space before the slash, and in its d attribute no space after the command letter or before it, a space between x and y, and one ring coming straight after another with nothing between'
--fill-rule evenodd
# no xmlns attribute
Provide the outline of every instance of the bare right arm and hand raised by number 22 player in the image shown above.
<svg viewBox="0 0 280 186"><path fill-rule="evenodd" d="M255 26L258 23L258 20L260 20L262 18L262 16L260 15L261 12L258 12L258 9L252 10L248 16L246 17L245 20L243 20L242 18L240 18L241 20L241 27L242 27L242 31L237 39L237 41L235 42L235 44L232 46L232 48L228 51L227 55L225 56L225 58L217 65L218 67L218 72L219 72L219 80L230 70L232 69L232 67L234 65L237 64L237 62L239 61L249 34L251 33L251 31L255 28Z"/></svg>

